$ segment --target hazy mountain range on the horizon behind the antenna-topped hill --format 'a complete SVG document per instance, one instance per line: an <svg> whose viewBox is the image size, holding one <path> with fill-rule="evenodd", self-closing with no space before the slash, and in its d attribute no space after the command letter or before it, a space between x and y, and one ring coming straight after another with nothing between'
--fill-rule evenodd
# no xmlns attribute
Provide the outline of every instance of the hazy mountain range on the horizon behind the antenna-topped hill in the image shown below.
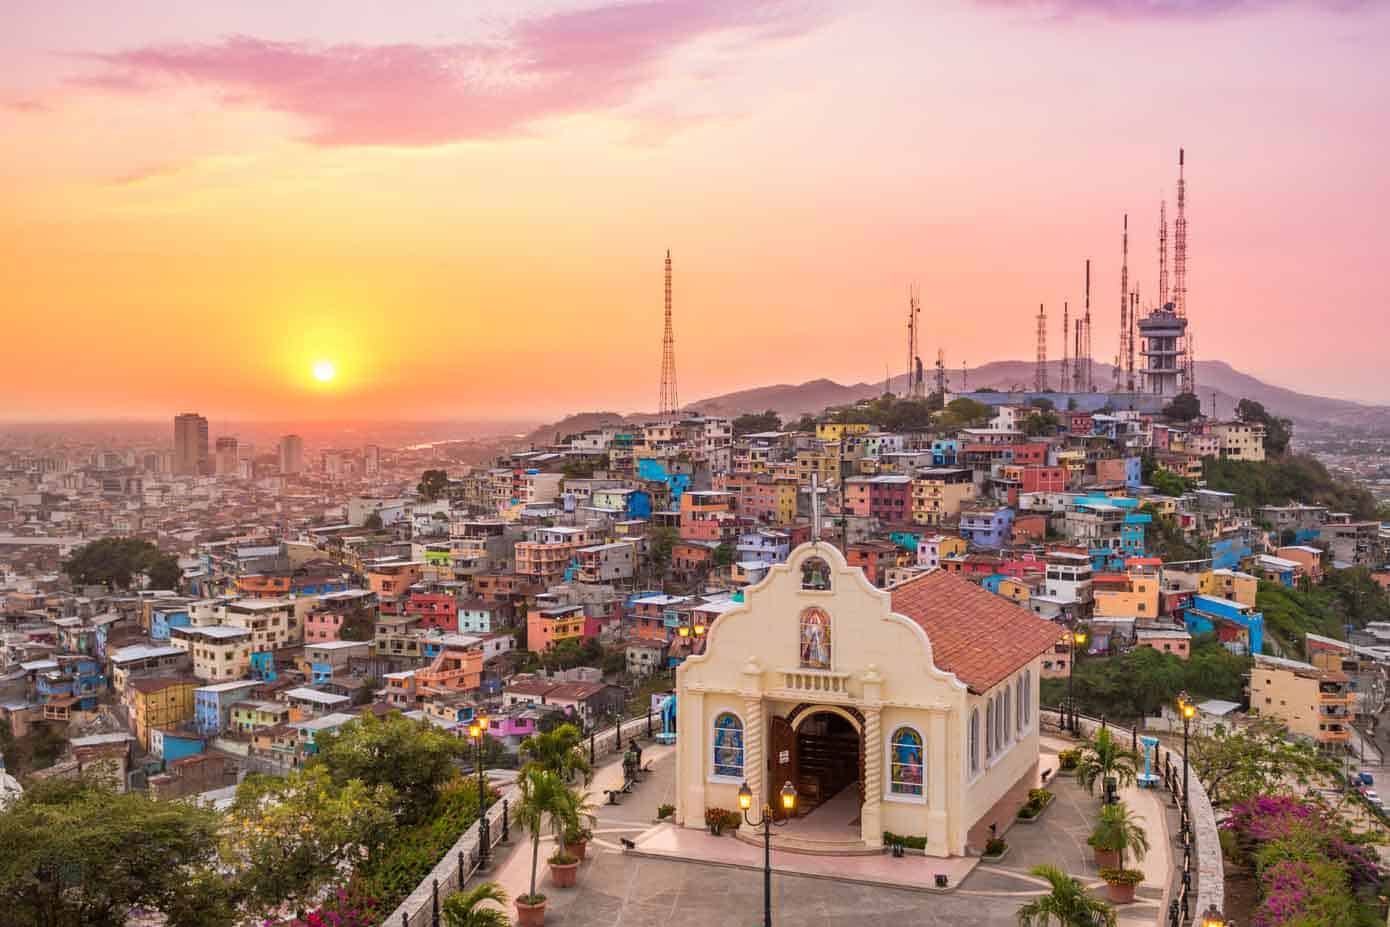
<svg viewBox="0 0 1390 927"><path fill-rule="evenodd" d="M935 371L927 371L927 392L935 386ZM999 392L1031 391L1036 366L1024 360L998 360L980 367L972 367L963 374L959 368L948 370L947 389L951 392L969 392L977 389L995 389ZM1241 372L1220 360L1197 361L1197 395L1202 400L1202 411L1218 417L1234 414L1236 403L1241 399L1252 399L1261 403L1270 414L1291 418L1300 431L1312 432L1330 428L1364 428L1390 431L1390 406L1376 406L1358 403L1347 399L1330 399L1327 396L1314 396L1301 393L1284 386L1275 386L1265 381ZM1061 381L1061 361L1048 364L1048 378L1056 385ZM1094 366L1094 381L1097 389L1112 389L1115 385L1115 366ZM906 385L906 377L895 377L888 381L888 389L901 393ZM759 413L769 409L787 418L799 418L802 414L817 414L828 406L844 406L862 399L873 399L884 392L884 382L865 384L837 384L833 379L810 379L803 384L777 384L773 386L756 386L741 389L720 396L710 396L688 403L688 411L698 411L708 416L741 416L744 413ZM569 416L555 424L537 428L527 438L532 443L549 443L555 435L569 435L605 424L649 421L655 413L620 414L613 411L589 411Z"/></svg>

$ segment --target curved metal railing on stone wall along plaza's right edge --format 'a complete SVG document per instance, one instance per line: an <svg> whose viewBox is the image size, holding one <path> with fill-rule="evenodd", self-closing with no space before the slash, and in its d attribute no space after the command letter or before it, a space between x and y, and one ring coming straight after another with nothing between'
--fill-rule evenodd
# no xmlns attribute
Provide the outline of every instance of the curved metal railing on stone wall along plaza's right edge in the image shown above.
<svg viewBox="0 0 1390 927"><path fill-rule="evenodd" d="M1059 731L1065 731L1068 720L1072 720L1080 732L1087 735L1094 735L1095 731L1104 728L1109 728L1116 737L1129 734L1131 749L1138 752L1137 727L1116 727L1104 717L1068 713L1059 707L1045 707L1038 714L1044 725L1048 716L1052 716ZM1162 757L1163 789L1169 794L1173 806L1177 807L1180 823L1177 837L1183 849L1183 862L1177 870L1180 881L1176 887L1176 896L1169 901L1162 924L1182 927L1182 924L1191 923L1193 927L1197 927L1201 923L1202 912L1212 905L1219 910L1226 901L1216 813L1212 810L1211 799L1207 798L1207 789L1195 776L1188 777L1184 794L1182 750L1159 748L1156 755Z"/></svg>

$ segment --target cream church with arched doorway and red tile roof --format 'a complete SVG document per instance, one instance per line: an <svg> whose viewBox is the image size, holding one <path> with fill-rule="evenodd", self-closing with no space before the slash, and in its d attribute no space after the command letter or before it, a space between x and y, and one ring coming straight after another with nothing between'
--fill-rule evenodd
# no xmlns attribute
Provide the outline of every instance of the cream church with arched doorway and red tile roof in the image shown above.
<svg viewBox="0 0 1390 927"><path fill-rule="evenodd" d="M1061 630L942 571L892 591L806 543L721 614L677 670L677 810L703 827L748 782L801 812L858 807L858 842L979 851L1038 767L1038 678ZM827 810L828 813L828 810Z"/></svg>

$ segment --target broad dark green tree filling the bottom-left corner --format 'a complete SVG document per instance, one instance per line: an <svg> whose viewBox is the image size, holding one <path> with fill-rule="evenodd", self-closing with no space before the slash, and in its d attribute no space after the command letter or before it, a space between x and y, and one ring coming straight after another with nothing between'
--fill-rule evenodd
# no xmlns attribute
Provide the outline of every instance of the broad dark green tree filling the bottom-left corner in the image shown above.
<svg viewBox="0 0 1390 927"><path fill-rule="evenodd" d="M124 927L133 908L170 927L231 924L217 828L218 813L196 805L33 782L0 813L0 926ZM195 894L197 912L186 905Z"/></svg>

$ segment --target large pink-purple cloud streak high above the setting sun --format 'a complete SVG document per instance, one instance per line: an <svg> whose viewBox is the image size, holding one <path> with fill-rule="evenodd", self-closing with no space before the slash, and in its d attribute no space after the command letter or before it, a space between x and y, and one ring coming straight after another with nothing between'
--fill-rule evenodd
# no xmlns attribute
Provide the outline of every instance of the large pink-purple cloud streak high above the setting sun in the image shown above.
<svg viewBox="0 0 1390 927"><path fill-rule="evenodd" d="M495 43L316 46L229 36L147 46L85 56L103 69L74 83L110 93L207 86L224 103L306 120L317 145L430 146L619 106L698 38L787 38L816 19L805 3L648 0L527 19Z"/></svg>

